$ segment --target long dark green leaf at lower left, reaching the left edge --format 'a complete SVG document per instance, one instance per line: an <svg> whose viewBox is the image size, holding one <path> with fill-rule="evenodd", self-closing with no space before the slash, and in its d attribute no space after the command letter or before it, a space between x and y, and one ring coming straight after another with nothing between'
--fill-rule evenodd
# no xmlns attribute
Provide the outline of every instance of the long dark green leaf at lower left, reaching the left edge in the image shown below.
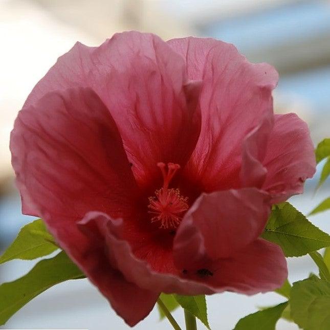
<svg viewBox="0 0 330 330"><path fill-rule="evenodd" d="M25 276L0 285L0 325L5 324L21 307L53 285L84 277L63 251L54 258L39 261Z"/></svg>

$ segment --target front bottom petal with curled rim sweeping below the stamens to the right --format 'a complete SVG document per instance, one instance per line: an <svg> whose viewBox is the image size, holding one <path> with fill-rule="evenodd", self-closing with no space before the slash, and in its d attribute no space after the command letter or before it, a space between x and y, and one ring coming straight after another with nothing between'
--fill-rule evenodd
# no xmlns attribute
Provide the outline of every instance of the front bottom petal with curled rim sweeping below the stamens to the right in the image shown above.
<svg viewBox="0 0 330 330"><path fill-rule="evenodd" d="M108 231L104 230L104 224ZM287 265L281 249L260 238L230 258L210 262L212 276L190 271L184 274L155 272L147 262L138 259L127 241L120 237L122 224L120 219L113 220L104 213L90 212L79 225L86 234L91 233L93 227L101 228L108 262L115 265L127 281L146 290L183 295L224 291L255 294L279 288L287 277Z"/></svg>

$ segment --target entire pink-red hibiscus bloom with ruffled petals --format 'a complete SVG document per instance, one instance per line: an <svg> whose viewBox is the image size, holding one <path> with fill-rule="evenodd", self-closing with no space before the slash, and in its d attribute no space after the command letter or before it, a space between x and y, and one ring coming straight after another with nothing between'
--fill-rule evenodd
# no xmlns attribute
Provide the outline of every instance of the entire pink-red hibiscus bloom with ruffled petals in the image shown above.
<svg viewBox="0 0 330 330"><path fill-rule="evenodd" d="M34 87L11 135L23 212L131 326L159 294L255 294L287 277L259 238L315 172L306 124L274 115L278 74L228 43L114 35Z"/></svg>

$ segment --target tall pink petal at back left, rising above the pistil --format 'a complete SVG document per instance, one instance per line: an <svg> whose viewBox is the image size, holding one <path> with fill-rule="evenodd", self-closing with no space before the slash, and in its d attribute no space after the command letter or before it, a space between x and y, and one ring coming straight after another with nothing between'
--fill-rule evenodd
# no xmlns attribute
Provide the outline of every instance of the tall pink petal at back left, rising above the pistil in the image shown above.
<svg viewBox="0 0 330 330"><path fill-rule="evenodd" d="M158 162L185 165L200 134L200 84L187 81L184 59L159 37L132 31L96 48L77 43L26 105L77 85L92 87L108 107L140 186L159 177Z"/></svg>

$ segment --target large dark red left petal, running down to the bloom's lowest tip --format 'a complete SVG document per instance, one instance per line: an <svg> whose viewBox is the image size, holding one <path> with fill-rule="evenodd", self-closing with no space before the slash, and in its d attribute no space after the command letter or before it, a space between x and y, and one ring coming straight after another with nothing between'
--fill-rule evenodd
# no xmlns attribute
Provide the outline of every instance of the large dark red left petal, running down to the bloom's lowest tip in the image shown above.
<svg viewBox="0 0 330 330"><path fill-rule="evenodd" d="M137 196L116 124L100 98L85 88L45 95L19 113L11 151L26 207L38 210L127 324L146 317L159 293L128 283L108 263L100 238L86 237L76 225L90 209L128 216Z"/></svg>

